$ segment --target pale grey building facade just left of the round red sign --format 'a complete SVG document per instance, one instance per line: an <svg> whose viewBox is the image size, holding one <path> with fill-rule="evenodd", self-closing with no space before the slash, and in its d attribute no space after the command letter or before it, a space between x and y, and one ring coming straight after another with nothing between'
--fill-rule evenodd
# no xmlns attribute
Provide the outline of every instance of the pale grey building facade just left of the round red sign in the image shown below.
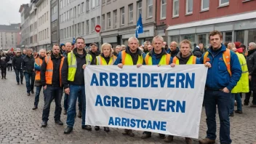
<svg viewBox="0 0 256 144"><path fill-rule="evenodd" d="M60 44L73 42L83 37L87 46L100 44L100 33L95 32L95 25L100 24L101 1L59 0L60 6Z"/></svg>

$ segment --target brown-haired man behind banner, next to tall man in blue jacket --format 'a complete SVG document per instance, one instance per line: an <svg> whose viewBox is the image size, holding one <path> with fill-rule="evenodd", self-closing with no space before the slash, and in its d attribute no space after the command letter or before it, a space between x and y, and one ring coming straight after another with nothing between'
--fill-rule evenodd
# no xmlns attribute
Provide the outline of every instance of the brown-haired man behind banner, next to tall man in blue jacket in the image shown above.
<svg viewBox="0 0 256 144"><path fill-rule="evenodd" d="M172 67L175 67L175 65L194 65L194 64L201 64L200 59L196 56L193 56L191 52L191 41L188 41L188 39L185 39L180 42L180 52L177 53L177 55L172 60ZM210 63L205 64L207 67L211 67ZM173 135L168 135L165 139L165 142L171 143L173 141ZM191 144L193 143L193 140L190 137L185 137L185 143Z"/></svg>

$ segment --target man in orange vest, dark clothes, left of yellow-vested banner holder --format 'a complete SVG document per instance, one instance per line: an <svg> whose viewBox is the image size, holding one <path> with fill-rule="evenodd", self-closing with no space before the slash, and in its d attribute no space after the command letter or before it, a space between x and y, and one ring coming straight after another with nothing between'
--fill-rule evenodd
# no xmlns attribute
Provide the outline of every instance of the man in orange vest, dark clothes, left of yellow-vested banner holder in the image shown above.
<svg viewBox="0 0 256 144"><path fill-rule="evenodd" d="M51 56L44 57L41 65L41 84L44 87L44 110L41 127L47 127L49 108L52 100L55 99L55 123L63 125L60 121L61 99L63 87L61 83L61 68L63 67L64 57L60 55L60 47L54 44Z"/></svg>

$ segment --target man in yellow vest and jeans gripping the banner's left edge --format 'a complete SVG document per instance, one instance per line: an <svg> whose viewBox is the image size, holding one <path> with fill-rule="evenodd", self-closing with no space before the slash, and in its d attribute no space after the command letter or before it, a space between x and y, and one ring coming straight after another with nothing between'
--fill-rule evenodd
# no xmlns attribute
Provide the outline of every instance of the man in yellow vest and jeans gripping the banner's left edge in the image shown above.
<svg viewBox="0 0 256 144"><path fill-rule="evenodd" d="M81 128L92 130L91 126L85 125L86 100L84 69L82 67L86 64L87 53L84 50L84 46L84 38L76 38L76 48L68 53L68 57L65 58L63 69L61 71L65 93L68 94L68 116L66 122L68 127L65 129L64 134L69 134L73 130L77 97L80 97L82 105Z"/></svg>

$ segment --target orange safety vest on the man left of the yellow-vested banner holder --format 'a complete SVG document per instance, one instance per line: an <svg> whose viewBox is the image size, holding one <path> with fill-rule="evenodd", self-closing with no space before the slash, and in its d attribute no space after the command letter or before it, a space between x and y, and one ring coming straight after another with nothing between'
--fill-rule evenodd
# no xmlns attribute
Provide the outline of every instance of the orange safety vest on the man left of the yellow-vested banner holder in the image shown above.
<svg viewBox="0 0 256 144"><path fill-rule="evenodd" d="M47 63L47 71L45 72L45 80L47 84L52 84L52 73L53 73L53 63L51 56L44 58L45 63ZM63 68L64 57L61 58L60 62L60 86L61 86L61 68Z"/></svg>

